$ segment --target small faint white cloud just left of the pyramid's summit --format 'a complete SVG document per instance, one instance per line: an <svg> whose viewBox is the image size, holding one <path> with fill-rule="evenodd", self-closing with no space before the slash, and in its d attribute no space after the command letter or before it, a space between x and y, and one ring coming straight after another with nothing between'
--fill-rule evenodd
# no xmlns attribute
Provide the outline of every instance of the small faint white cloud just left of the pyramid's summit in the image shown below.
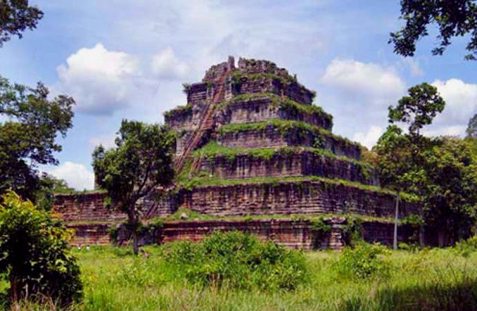
<svg viewBox="0 0 477 311"><path fill-rule="evenodd" d="M185 62L180 62L169 46L152 57L151 70L157 77L178 78L187 74L189 66Z"/></svg>

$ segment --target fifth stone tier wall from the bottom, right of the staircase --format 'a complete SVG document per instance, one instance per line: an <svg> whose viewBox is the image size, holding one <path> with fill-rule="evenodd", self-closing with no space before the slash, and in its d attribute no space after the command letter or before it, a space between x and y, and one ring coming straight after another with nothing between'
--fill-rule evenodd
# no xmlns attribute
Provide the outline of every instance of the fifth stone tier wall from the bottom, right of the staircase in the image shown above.
<svg viewBox="0 0 477 311"><path fill-rule="evenodd" d="M228 104L225 110L218 113L217 119L221 124L262 122L270 119L281 119L306 122L328 130L331 130L333 126L333 122L330 122L330 120L318 113L292 114L278 107L274 107L272 106L272 100L268 97Z"/></svg>

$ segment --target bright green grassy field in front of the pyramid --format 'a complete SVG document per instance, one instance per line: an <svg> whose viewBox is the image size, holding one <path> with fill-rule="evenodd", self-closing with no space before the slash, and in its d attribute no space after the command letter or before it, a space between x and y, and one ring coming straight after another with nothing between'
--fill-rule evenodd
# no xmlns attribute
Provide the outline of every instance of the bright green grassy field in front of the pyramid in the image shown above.
<svg viewBox="0 0 477 311"><path fill-rule="evenodd" d="M476 310L477 253L389 251L386 273L367 279L337 269L340 252L307 252L309 276L296 290L201 287L171 268L158 246L133 256L110 246L75 249L84 301L73 310ZM46 307L43 307L46 308ZM22 305L22 310L44 310Z"/></svg>

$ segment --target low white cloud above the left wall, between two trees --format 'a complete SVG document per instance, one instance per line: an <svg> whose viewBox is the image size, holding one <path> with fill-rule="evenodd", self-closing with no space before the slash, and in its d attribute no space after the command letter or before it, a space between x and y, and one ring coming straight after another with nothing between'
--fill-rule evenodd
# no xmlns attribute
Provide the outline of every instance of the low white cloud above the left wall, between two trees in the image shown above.
<svg viewBox="0 0 477 311"><path fill-rule="evenodd" d="M46 171L46 173L49 173L56 178L66 180L69 187L73 187L77 190L91 190L95 184L94 173L88 171L83 164L79 163L64 162L59 165L59 167Z"/></svg>

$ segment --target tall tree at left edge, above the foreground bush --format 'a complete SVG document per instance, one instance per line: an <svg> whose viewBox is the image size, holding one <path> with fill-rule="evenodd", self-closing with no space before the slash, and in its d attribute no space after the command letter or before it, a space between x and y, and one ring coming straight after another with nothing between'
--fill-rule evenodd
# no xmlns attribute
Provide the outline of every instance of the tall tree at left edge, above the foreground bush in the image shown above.
<svg viewBox="0 0 477 311"><path fill-rule="evenodd" d="M57 135L73 126L73 98L48 98L48 88L12 85L0 77L0 193L14 189L33 199L39 189L39 164L57 164Z"/></svg>

